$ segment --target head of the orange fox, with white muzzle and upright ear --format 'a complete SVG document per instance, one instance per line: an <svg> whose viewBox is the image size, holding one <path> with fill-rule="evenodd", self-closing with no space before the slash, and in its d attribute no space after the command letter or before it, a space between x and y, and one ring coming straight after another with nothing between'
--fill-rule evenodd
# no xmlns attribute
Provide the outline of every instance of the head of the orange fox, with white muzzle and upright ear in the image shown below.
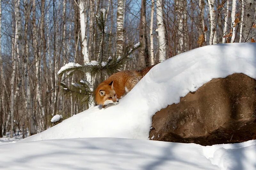
<svg viewBox="0 0 256 170"><path fill-rule="evenodd" d="M100 86L96 93L98 93L96 94L96 102L102 106L106 106L110 103L117 104L119 102L114 90L114 81Z"/></svg>

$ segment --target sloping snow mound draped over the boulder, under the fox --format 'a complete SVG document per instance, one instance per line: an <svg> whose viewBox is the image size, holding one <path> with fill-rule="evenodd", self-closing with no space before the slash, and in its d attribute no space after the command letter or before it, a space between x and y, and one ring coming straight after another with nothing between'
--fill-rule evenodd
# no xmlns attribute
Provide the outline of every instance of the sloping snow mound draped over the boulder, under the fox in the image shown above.
<svg viewBox="0 0 256 170"><path fill-rule="evenodd" d="M148 139L152 116L212 78L256 78L256 43L209 45L154 66L118 105L90 108L23 141L80 137Z"/></svg>

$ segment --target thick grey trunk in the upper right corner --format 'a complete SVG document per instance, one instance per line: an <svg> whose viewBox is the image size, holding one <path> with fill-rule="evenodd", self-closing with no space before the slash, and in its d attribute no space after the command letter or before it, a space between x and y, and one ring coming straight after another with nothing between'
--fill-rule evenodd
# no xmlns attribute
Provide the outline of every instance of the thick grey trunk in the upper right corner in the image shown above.
<svg viewBox="0 0 256 170"><path fill-rule="evenodd" d="M256 29L252 28L255 24L255 1L246 0L244 2L244 42L251 42L253 38L255 40Z"/></svg>

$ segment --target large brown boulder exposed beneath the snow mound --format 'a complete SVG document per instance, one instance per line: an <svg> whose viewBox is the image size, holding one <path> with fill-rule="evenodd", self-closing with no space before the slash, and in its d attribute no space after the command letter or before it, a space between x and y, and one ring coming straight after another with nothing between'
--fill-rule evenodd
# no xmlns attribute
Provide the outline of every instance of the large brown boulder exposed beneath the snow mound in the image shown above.
<svg viewBox="0 0 256 170"><path fill-rule="evenodd" d="M256 80L215 78L152 117L152 140L201 145L256 139Z"/></svg>

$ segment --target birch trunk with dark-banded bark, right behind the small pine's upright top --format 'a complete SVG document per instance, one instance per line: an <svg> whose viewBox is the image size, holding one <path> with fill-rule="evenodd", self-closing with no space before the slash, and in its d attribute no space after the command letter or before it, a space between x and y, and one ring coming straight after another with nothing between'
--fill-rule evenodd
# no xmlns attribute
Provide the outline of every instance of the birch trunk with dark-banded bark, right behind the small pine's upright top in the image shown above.
<svg viewBox="0 0 256 170"><path fill-rule="evenodd" d="M124 0L117 1L116 55L123 54L124 43Z"/></svg>

